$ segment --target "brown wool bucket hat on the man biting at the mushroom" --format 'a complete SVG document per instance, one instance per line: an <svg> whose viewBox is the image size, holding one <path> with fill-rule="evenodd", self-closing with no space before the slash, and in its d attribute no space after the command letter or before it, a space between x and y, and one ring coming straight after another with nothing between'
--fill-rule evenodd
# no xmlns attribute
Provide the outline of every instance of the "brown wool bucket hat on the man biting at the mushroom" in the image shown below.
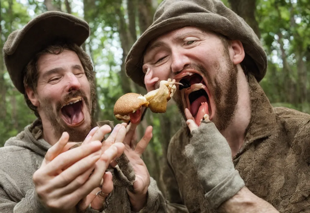
<svg viewBox="0 0 310 213"><path fill-rule="evenodd" d="M164 0L157 8L153 24L131 47L125 70L135 83L145 87L142 61L144 51L153 39L172 30L195 26L220 33L243 44L245 67L262 80L267 70L267 56L259 38L246 22L219 0Z"/></svg>

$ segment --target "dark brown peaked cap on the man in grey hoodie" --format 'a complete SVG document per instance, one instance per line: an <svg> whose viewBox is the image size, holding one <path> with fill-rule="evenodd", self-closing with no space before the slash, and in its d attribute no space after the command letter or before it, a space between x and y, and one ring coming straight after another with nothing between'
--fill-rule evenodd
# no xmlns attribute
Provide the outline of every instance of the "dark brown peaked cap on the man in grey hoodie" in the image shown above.
<svg viewBox="0 0 310 213"><path fill-rule="evenodd" d="M36 53L57 40L81 46L89 35L84 20L59 11L42 13L12 32L3 46L3 55L15 87L24 94L24 69Z"/></svg>

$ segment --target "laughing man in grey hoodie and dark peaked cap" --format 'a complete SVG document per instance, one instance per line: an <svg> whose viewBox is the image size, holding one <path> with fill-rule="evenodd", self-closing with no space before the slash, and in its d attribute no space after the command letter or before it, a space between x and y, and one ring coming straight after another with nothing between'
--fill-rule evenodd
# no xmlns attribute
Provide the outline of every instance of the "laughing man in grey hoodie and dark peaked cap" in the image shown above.
<svg viewBox="0 0 310 213"><path fill-rule="evenodd" d="M149 182L149 176L135 176L131 159L140 166L139 152L152 128L141 140L144 145L137 144L138 152L124 146L131 139L125 124L96 126L95 72L81 47L89 35L84 20L49 11L11 33L4 44L11 80L38 119L0 148L0 212L143 208L140 197L148 187L139 190L139 183ZM143 205L135 204L138 199Z"/></svg>

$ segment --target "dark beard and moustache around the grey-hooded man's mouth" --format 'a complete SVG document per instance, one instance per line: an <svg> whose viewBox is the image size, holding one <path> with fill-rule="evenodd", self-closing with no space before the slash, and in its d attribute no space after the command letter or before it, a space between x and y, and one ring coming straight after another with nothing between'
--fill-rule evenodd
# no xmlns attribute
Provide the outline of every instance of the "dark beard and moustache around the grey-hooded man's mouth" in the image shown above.
<svg viewBox="0 0 310 213"><path fill-rule="evenodd" d="M60 113L62 113L61 112L62 106L64 106L70 99L76 98L78 96L82 97L83 101L85 102L87 114L91 118L90 124L83 129L78 129L79 127L68 126L60 117ZM92 102L94 100L92 99ZM47 119L50 121L54 129L54 136L58 139L61 137L63 132L68 132L70 141L74 142L84 141L85 137L90 132L91 128L94 127L95 120L93 120L91 116L91 108L93 108L94 105L90 104L88 98L86 97L86 94L82 90L76 90L74 92L70 92L64 95L62 100L56 103L55 109L52 107L51 100L49 98L44 98L40 102L40 105L42 107L44 114L46 115ZM84 115L84 118L85 117L86 115Z"/></svg>

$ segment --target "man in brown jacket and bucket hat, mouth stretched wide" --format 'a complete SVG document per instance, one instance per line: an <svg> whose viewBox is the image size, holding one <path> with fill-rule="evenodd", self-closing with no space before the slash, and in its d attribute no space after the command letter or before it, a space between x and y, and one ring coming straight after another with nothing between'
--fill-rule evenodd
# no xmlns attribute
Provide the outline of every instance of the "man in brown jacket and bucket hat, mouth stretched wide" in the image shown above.
<svg viewBox="0 0 310 213"><path fill-rule="evenodd" d="M221 1L164 0L125 67L148 92L182 83L173 98L187 125L170 141L157 209L310 212L310 115L272 107L259 38Z"/></svg>

